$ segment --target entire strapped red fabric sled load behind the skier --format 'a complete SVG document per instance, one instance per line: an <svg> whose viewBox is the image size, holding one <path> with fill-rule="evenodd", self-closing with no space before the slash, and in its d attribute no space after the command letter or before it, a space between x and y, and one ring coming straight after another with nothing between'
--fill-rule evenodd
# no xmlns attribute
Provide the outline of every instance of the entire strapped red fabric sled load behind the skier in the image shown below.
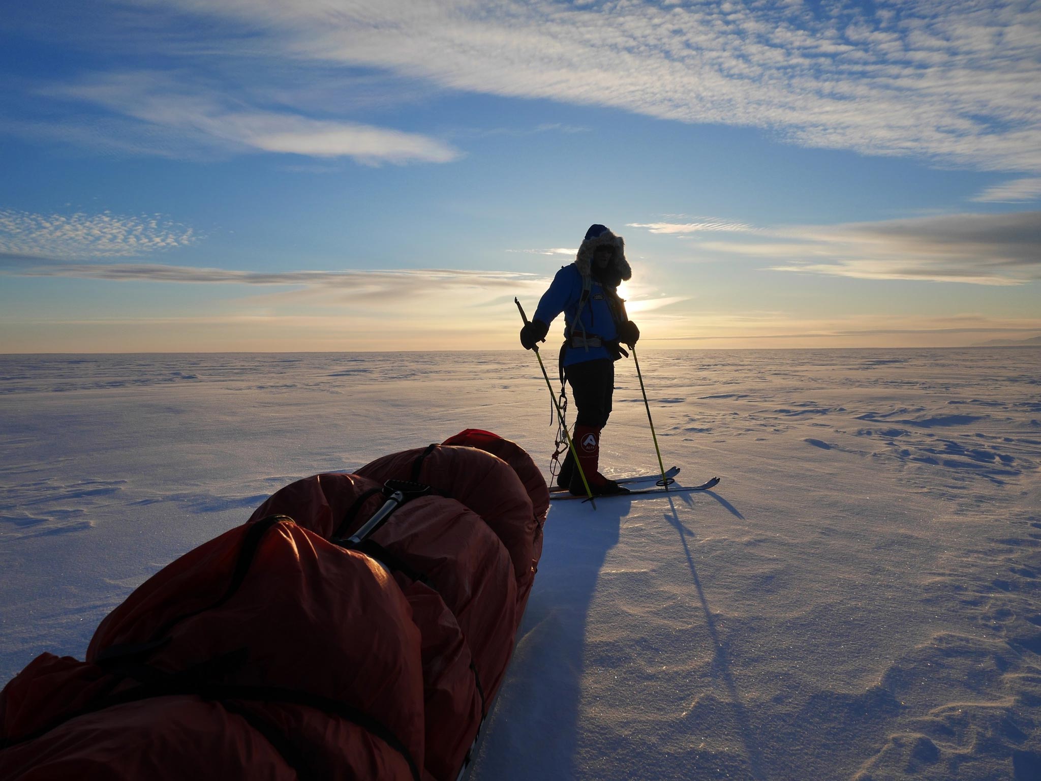
<svg viewBox="0 0 1041 781"><path fill-rule="evenodd" d="M548 504L516 445L460 436L285 486L135 589L86 661L42 654L0 692L0 778L456 778Z"/></svg>

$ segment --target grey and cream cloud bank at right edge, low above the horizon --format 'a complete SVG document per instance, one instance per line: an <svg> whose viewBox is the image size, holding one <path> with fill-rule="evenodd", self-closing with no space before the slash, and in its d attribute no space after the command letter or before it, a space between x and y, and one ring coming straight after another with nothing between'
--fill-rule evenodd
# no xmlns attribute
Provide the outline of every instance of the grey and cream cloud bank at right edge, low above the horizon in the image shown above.
<svg viewBox="0 0 1041 781"><path fill-rule="evenodd" d="M775 271L995 285L1041 279L1041 211L787 227L760 235L697 246L777 261Z"/></svg>

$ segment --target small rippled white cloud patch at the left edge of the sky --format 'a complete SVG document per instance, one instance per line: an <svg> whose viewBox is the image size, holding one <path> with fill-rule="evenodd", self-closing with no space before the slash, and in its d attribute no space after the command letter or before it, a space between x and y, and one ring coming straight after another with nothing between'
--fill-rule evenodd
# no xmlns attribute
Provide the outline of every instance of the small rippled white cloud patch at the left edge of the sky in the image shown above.
<svg viewBox="0 0 1041 781"><path fill-rule="evenodd" d="M132 257L197 241L199 235L192 228L160 215L36 215L0 209L0 257Z"/></svg>

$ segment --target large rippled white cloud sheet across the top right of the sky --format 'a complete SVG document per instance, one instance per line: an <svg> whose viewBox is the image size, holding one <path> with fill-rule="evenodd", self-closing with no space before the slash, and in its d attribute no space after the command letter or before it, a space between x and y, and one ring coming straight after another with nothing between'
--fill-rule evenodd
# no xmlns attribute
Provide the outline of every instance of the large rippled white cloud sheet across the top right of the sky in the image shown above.
<svg viewBox="0 0 1041 781"><path fill-rule="evenodd" d="M294 61L768 128L798 144L1041 172L1034 4L974 0L136 0ZM242 32L249 30L247 43Z"/></svg>

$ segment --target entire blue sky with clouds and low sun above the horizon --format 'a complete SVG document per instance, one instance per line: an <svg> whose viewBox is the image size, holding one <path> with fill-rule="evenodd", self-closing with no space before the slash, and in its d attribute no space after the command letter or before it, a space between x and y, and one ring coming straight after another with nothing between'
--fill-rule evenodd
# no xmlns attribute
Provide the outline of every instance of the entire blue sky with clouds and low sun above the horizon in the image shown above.
<svg viewBox="0 0 1041 781"><path fill-rule="evenodd" d="M1039 42L1036 1L8 3L0 352L515 349L593 223L641 348L1031 339Z"/></svg>

